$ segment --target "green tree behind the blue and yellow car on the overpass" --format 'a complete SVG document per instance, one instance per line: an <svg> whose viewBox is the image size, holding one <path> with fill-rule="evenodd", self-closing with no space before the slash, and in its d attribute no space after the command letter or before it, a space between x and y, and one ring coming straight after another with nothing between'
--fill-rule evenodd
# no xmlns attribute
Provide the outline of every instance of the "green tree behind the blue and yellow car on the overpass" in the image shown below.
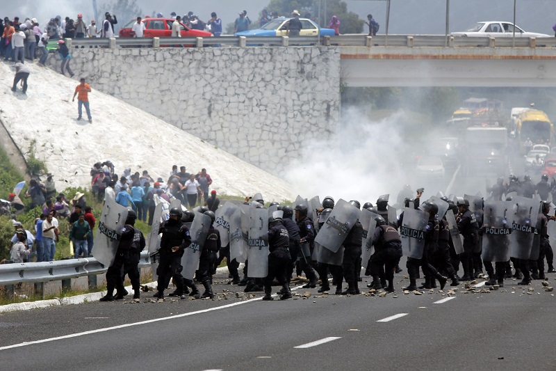
<svg viewBox="0 0 556 371"><path fill-rule="evenodd" d="M325 6L326 5L326 6ZM320 6L320 19L318 19ZM325 11L326 8L326 11ZM340 19L340 33L361 33L363 20L359 15L347 11L347 4L341 0L270 0L266 10L278 13L283 17L291 15L293 10L299 10L302 17L307 14L322 28L327 28L333 15ZM259 15L260 17L260 15Z"/></svg>

